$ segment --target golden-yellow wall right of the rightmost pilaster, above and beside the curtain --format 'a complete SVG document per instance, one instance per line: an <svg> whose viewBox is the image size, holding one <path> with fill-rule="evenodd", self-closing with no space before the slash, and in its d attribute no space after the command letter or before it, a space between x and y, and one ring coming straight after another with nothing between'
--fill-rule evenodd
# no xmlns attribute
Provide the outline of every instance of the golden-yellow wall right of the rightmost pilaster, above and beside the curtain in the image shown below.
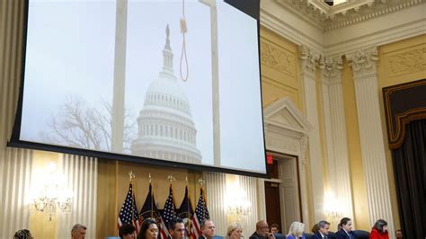
<svg viewBox="0 0 426 239"><path fill-rule="evenodd" d="M426 78L426 34L407 40L400 40L379 48L378 91L386 86L404 84ZM387 142L386 116L383 97L379 98L380 117L384 132L384 141ZM389 189L393 214L398 216L398 205L395 191L395 174L392 155L386 144L386 169L389 179ZM395 217L395 229L401 228L400 218Z"/></svg>

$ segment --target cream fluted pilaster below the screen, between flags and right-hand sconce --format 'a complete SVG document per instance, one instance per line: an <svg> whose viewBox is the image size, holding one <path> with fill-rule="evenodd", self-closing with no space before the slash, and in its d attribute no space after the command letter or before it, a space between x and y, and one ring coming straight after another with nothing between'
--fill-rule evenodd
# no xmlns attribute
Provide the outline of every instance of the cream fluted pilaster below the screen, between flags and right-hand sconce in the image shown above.
<svg viewBox="0 0 426 239"><path fill-rule="evenodd" d="M206 181L207 207L210 219L216 226L216 235L226 235L225 192L226 175L224 173L203 173Z"/></svg>

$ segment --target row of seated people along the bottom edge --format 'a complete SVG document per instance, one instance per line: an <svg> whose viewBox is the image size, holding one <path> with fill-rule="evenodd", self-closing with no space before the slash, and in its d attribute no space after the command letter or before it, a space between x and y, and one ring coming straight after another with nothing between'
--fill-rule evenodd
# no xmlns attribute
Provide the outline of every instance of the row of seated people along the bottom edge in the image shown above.
<svg viewBox="0 0 426 239"><path fill-rule="evenodd" d="M146 220L140 226L141 229L136 234L134 226L122 225L119 228L119 235L121 239L159 239L159 230L157 223L154 220ZM86 227L80 224L73 226L71 230L72 239L84 239L86 234ZM198 239L212 239L216 233L216 227L211 219L202 221L200 223L201 235ZM169 233L172 239L185 239L188 238L188 232L185 229L184 223L181 218L174 218L169 226ZM244 238L243 227L235 222L232 223L226 232L226 239L242 239ZM32 239L32 235L28 229L22 229L13 235L14 239ZM271 228L268 226L266 220L261 220L256 223L255 231L249 237L250 239L389 239L387 231L387 222L384 219L378 219L371 231L352 230L352 221L349 217L343 217L338 225L338 231L333 233L330 231L330 223L321 220L315 224L310 232L306 232L305 224L301 222L293 222L289 228L288 233L281 233L280 226L272 224ZM403 232L401 230L395 231L395 238L401 239Z"/></svg>

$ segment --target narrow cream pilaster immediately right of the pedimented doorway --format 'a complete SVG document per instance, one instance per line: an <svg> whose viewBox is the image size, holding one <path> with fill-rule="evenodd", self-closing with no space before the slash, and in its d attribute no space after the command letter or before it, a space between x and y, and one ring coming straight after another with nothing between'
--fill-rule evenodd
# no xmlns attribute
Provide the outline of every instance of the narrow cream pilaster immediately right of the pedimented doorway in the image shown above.
<svg viewBox="0 0 426 239"><path fill-rule="evenodd" d="M302 46L301 49L302 78L305 89L306 118L313 126L309 131L309 162L312 182L312 196L314 201L314 218L319 221L324 218L324 180L323 162L321 153L318 108L316 98L316 61L319 54Z"/></svg>

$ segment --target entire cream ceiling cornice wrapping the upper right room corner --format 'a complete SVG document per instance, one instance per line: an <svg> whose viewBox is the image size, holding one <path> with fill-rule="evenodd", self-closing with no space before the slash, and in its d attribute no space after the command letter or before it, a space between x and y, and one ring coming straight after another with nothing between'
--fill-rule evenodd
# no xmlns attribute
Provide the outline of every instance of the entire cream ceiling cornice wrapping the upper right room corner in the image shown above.
<svg viewBox="0 0 426 239"><path fill-rule="evenodd" d="M324 8L339 13L332 20L324 16ZM338 56L425 34L425 11L423 0L359 0L332 8L320 0L261 1L261 24L299 46L309 46L324 56ZM322 14L325 20L310 19L309 13ZM333 21L340 24L338 28ZM331 24L327 31L322 25L325 22Z"/></svg>

